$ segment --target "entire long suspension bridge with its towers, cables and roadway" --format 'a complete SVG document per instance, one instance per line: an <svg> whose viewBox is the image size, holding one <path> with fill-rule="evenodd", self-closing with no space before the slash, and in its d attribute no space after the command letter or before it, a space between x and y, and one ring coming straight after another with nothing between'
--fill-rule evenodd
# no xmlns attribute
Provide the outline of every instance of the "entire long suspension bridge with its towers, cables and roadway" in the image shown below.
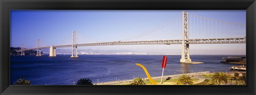
<svg viewBox="0 0 256 95"><path fill-rule="evenodd" d="M181 36L181 38L180 38ZM56 48L71 47L71 58L77 58L77 47L109 46L109 45L171 45L181 44L180 63L191 63L189 56L190 44L245 44L245 24L215 20L203 16L189 14L183 11L172 21L164 23L137 36L111 42L94 42L88 44L77 43L77 32L73 31L72 44L51 45L41 47L41 40L37 40L37 47L25 48L22 44L21 55L26 50L37 50L36 56L41 56L41 49L50 49L50 57L56 56Z"/></svg>

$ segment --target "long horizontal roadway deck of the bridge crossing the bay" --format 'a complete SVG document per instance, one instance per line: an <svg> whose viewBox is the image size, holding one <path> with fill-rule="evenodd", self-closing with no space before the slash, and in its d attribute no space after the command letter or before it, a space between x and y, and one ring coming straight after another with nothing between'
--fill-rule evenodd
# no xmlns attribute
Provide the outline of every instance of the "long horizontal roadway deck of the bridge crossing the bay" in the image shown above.
<svg viewBox="0 0 256 95"><path fill-rule="evenodd" d="M147 40L147 41L112 41L112 42L98 42L90 44L76 44L74 46L110 46L110 45L171 45L181 44L182 40ZM246 37L243 38L211 38L211 39L189 39L185 44L242 44L246 43ZM59 45L53 46L53 48L72 47L72 45ZM40 47L38 49L47 49L49 47ZM26 50L34 50L37 48L27 48ZM20 52L21 50L17 50Z"/></svg>

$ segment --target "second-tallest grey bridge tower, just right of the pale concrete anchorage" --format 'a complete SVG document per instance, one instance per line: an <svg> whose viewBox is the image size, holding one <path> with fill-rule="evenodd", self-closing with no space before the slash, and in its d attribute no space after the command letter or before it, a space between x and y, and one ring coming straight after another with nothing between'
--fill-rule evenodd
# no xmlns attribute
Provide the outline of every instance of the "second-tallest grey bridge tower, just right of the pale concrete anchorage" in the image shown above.
<svg viewBox="0 0 256 95"><path fill-rule="evenodd" d="M73 36L72 36L72 54L71 58L78 58L77 56L77 34L76 31L73 31Z"/></svg>

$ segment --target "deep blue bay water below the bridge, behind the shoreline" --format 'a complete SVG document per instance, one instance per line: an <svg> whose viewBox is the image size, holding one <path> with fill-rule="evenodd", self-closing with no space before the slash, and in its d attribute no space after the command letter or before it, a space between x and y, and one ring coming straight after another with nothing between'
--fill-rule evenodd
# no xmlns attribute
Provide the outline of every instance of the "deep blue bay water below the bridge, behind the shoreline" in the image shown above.
<svg viewBox="0 0 256 95"><path fill-rule="evenodd" d="M168 55L164 75L199 71L229 71L235 64L220 63L222 57L245 55L190 55L192 61L204 64L181 64L180 55ZM70 55L11 56L11 84L19 78L30 80L33 85L73 85L81 78L90 78L93 83L147 77L141 67L145 66L151 76L162 75L163 55ZM239 66L239 65L236 65ZM231 72L231 71L230 71Z"/></svg>

